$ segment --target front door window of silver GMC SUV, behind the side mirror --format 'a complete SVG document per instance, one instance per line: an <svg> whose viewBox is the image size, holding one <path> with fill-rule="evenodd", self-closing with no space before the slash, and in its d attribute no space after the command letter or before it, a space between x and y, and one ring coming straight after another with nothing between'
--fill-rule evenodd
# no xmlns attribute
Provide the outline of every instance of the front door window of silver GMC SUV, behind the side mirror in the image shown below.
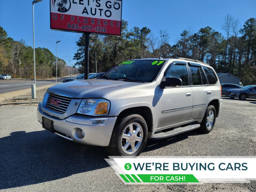
<svg viewBox="0 0 256 192"><path fill-rule="evenodd" d="M173 65L166 72L165 78L167 77L178 77L182 80L182 86L188 85L188 72L186 65Z"/></svg>

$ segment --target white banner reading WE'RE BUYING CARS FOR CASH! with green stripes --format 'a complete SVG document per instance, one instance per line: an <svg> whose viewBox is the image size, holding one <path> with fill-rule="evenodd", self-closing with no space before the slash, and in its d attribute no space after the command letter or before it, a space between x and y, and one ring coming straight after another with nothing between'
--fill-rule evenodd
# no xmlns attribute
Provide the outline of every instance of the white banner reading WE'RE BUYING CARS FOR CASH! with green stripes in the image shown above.
<svg viewBox="0 0 256 192"><path fill-rule="evenodd" d="M255 156L109 156L105 160L125 184L244 183L256 179Z"/></svg>

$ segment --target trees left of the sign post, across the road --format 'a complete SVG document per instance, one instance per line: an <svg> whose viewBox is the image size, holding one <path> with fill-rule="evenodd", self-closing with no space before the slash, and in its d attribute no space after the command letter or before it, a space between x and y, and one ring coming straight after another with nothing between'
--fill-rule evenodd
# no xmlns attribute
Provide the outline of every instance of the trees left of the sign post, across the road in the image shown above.
<svg viewBox="0 0 256 192"><path fill-rule="evenodd" d="M43 47L35 49L36 78L48 79L56 76L56 56ZM57 76L67 76L66 62L58 58ZM72 68L77 73L76 68ZM34 78L34 53L31 46L24 40L15 41L8 37L7 32L0 26L0 73L9 74L14 78ZM73 73L73 74L74 74ZM71 67L70 67L71 74Z"/></svg>

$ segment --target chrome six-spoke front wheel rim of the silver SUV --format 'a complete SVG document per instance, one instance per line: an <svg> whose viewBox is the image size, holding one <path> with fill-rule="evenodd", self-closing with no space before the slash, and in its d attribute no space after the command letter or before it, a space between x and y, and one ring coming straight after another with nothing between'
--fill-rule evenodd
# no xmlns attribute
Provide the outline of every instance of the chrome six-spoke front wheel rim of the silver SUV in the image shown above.
<svg viewBox="0 0 256 192"><path fill-rule="evenodd" d="M143 129L138 123L126 126L121 136L121 145L124 153L133 154L139 148L143 140Z"/></svg>

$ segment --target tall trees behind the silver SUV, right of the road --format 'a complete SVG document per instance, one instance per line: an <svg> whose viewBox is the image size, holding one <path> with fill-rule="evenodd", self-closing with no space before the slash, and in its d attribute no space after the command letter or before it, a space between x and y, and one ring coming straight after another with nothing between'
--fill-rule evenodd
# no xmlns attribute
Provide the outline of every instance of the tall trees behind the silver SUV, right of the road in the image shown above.
<svg viewBox="0 0 256 192"><path fill-rule="evenodd" d="M106 72L118 62L140 58L190 58L210 64L217 73L231 73L243 84L256 84L256 19L250 18L239 28L238 20L227 15L221 26L222 35L207 26L196 33L183 30L176 44L170 45L167 31L156 36L147 27L133 27L122 21L121 36L90 35L89 71ZM76 66L84 72L84 34L76 42Z"/></svg>

